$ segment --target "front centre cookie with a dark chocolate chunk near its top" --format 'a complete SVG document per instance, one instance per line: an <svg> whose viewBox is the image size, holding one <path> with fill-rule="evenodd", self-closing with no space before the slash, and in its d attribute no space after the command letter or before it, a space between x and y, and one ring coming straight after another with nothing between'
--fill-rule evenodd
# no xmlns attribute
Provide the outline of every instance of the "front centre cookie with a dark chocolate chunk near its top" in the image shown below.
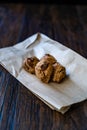
<svg viewBox="0 0 87 130"><path fill-rule="evenodd" d="M52 71L53 66L49 63L49 61L46 60L41 60L35 66L36 76L45 83L48 83L50 81Z"/></svg>

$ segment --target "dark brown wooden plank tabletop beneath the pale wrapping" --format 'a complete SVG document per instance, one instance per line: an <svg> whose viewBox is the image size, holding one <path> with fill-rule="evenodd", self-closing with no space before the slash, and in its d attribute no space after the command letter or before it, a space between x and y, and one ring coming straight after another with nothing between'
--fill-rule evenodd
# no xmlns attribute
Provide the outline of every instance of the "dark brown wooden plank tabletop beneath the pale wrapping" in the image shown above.
<svg viewBox="0 0 87 130"><path fill-rule="evenodd" d="M87 5L0 5L0 48L37 32L87 58ZM0 65L0 130L87 130L87 100L62 115Z"/></svg>

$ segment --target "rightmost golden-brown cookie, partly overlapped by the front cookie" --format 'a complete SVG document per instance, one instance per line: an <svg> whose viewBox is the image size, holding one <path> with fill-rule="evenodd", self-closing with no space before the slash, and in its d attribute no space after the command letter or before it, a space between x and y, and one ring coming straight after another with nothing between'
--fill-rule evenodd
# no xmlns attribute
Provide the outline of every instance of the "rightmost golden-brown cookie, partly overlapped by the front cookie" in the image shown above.
<svg viewBox="0 0 87 130"><path fill-rule="evenodd" d="M65 67L58 62L53 64L52 81L60 83L66 76Z"/></svg>

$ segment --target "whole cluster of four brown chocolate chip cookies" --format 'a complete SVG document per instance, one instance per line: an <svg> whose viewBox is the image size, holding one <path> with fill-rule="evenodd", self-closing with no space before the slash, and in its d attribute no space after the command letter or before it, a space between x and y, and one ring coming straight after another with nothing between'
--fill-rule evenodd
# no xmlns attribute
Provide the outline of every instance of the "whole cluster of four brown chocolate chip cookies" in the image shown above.
<svg viewBox="0 0 87 130"><path fill-rule="evenodd" d="M50 81L60 83L66 76L65 67L50 54L45 54L40 60L35 56L26 58L23 67L45 83Z"/></svg>

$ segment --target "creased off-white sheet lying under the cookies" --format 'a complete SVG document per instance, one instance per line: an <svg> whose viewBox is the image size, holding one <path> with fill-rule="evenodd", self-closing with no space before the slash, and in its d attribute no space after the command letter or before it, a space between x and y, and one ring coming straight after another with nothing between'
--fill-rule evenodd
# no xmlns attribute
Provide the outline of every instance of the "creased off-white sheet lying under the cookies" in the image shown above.
<svg viewBox="0 0 87 130"><path fill-rule="evenodd" d="M45 84L22 68L25 57L41 58L46 53L66 67L67 77L60 84ZM64 114L70 105L87 98L87 60L44 34L37 33L14 46L1 48L0 63L53 110Z"/></svg>

